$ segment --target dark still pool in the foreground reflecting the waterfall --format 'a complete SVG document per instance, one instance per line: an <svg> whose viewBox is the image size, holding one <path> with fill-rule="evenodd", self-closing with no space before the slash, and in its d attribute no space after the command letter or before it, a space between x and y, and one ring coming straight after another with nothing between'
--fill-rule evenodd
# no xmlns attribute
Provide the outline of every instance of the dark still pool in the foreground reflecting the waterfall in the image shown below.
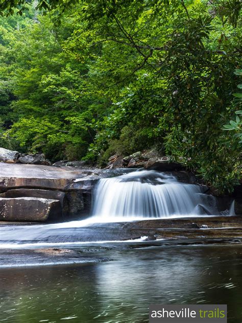
<svg viewBox="0 0 242 323"><path fill-rule="evenodd" d="M112 247L91 265L0 270L0 322L148 322L150 304L228 304L242 321L242 246Z"/></svg>

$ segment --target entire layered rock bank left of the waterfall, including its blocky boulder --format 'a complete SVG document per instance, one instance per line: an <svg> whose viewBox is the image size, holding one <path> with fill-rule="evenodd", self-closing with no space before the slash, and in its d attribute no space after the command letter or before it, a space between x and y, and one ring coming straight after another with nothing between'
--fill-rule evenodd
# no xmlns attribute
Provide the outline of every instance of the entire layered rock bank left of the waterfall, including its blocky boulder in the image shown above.
<svg viewBox="0 0 242 323"><path fill-rule="evenodd" d="M0 163L0 220L46 221L88 214L98 169Z"/></svg>

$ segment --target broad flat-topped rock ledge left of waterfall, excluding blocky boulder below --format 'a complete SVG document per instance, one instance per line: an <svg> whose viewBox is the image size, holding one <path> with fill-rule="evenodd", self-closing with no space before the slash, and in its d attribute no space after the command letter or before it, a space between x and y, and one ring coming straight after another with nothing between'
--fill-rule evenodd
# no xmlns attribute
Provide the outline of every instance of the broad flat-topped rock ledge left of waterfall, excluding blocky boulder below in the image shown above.
<svg viewBox="0 0 242 323"><path fill-rule="evenodd" d="M96 180L118 175L116 170L0 163L0 193L4 198L36 197L60 201L63 214L86 216ZM1 197L1 196L0 196ZM1 207L0 207L1 211ZM32 207L33 216L35 206ZM38 217L33 219L38 221Z"/></svg>

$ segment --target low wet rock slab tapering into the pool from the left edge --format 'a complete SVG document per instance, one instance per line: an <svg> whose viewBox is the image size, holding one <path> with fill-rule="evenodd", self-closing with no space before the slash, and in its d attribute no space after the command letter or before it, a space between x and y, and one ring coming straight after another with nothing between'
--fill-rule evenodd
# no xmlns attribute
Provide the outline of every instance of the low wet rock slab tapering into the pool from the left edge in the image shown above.
<svg viewBox="0 0 242 323"><path fill-rule="evenodd" d="M109 261L104 257L83 255L71 249L0 249L0 268L41 265L85 264Z"/></svg>

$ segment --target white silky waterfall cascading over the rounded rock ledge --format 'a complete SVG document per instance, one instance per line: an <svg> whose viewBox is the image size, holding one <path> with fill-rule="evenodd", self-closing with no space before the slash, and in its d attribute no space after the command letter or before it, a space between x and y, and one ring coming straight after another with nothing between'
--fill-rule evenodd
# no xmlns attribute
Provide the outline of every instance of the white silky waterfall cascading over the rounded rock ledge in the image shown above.
<svg viewBox="0 0 242 323"><path fill-rule="evenodd" d="M99 181L93 194L92 215L110 221L117 217L211 214L211 207L204 204L203 191L197 185L179 183L174 176L135 171Z"/></svg>

